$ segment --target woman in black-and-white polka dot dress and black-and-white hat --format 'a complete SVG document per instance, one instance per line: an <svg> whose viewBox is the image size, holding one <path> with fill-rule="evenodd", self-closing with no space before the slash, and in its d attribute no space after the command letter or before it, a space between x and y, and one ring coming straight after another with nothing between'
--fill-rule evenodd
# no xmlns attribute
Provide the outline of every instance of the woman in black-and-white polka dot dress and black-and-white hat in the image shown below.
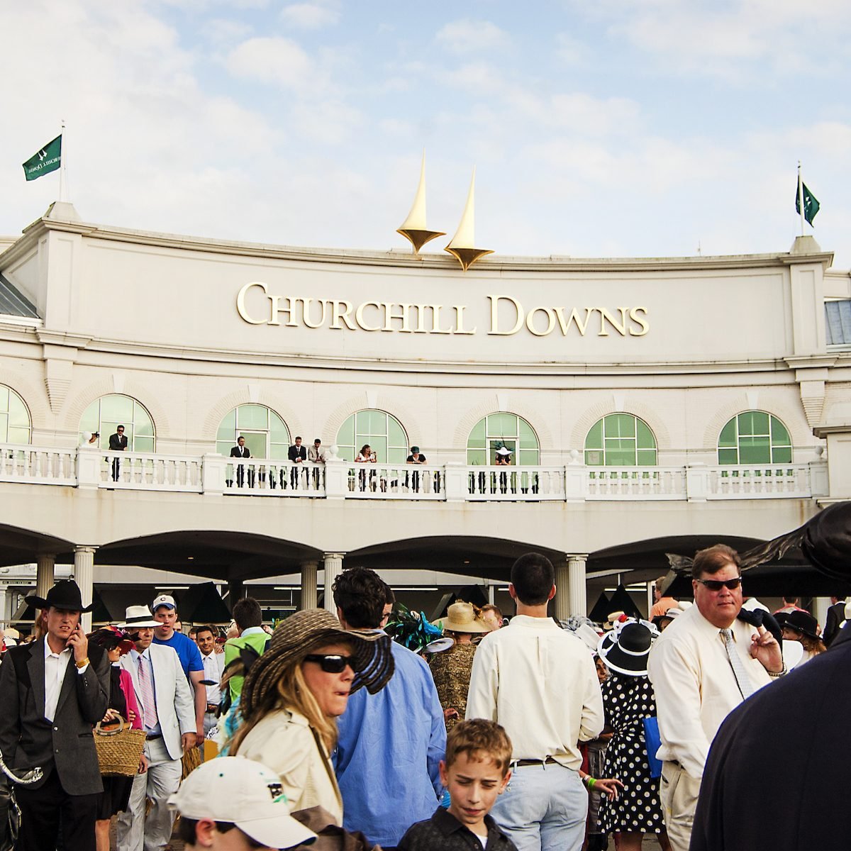
<svg viewBox="0 0 851 851"><path fill-rule="evenodd" d="M610 801L600 802L600 826L620 833L620 851L640 851L643 835L655 833L664 851L671 848L659 799L659 778L650 776L644 718L656 714L653 686L647 678L647 657L659 633L647 621L627 621L614 643L602 643L600 656L611 671L602 685L606 723L614 736L606 751L604 777L620 780L624 788Z"/></svg>

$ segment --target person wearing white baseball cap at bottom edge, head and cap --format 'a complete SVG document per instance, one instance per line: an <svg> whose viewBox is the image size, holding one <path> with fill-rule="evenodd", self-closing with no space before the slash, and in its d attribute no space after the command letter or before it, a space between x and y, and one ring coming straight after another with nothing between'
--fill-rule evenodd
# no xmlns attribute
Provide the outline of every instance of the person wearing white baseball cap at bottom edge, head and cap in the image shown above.
<svg viewBox="0 0 851 851"><path fill-rule="evenodd" d="M277 774L243 757L204 762L168 805L180 813L178 835L186 848L283 851L317 837L289 814Z"/></svg>

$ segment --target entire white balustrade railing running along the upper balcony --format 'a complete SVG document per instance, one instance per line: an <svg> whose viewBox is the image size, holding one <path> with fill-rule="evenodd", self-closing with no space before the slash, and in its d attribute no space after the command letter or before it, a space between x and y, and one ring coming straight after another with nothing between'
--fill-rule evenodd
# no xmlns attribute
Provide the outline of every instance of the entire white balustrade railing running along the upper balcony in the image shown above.
<svg viewBox="0 0 851 851"><path fill-rule="evenodd" d="M828 494L827 462L602 467L294 464L0 443L0 483L171 491L228 497L437 502L811 499Z"/></svg>

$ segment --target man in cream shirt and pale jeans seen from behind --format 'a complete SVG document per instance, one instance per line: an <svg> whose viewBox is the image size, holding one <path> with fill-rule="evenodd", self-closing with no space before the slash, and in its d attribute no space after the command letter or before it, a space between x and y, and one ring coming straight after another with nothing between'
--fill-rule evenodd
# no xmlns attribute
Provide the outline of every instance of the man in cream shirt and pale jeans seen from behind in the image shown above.
<svg viewBox="0 0 851 851"><path fill-rule="evenodd" d="M582 847L588 794L579 741L603 730L591 654L546 614L554 579L537 552L514 563L508 591L517 614L479 644L467 697L466 717L498 722L511 739L511 785L491 815L519 851Z"/></svg>

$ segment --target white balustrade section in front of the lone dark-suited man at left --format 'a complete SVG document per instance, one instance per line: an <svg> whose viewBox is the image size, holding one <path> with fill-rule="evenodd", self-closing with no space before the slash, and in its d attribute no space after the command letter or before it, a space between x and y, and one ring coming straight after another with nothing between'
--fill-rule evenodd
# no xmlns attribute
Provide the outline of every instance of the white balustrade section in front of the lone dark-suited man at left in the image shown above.
<svg viewBox="0 0 851 851"><path fill-rule="evenodd" d="M86 453L92 450L86 450ZM152 452L97 450L99 488L203 493L201 458Z"/></svg>

